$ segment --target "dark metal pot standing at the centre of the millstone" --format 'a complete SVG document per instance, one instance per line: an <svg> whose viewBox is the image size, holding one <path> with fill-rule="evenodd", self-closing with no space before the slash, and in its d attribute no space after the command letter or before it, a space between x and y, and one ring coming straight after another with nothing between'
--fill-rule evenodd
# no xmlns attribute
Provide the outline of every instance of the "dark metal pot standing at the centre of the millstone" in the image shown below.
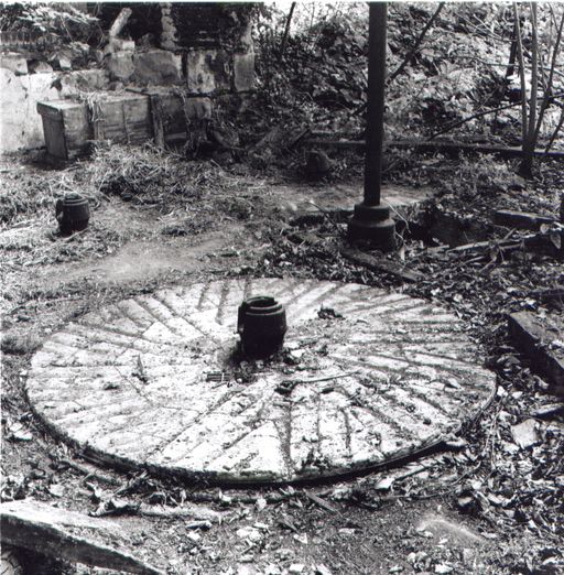
<svg viewBox="0 0 564 575"><path fill-rule="evenodd" d="M237 333L241 349L249 357L263 358L275 354L286 333L286 312L270 295L256 295L239 306Z"/></svg>

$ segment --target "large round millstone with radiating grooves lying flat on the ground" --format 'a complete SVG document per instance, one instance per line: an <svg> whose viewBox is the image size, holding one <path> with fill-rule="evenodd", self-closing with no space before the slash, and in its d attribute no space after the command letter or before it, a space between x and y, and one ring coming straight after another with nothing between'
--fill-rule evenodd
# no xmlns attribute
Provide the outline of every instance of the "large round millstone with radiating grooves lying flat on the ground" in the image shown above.
<svg viewBox="0 0 564 575"><path fill-rule="evenodd" d="M237 359L237 311L286 308L284 349ZM453 314L365 285L225 280L88 313L33 358L29 401L104 460L215 484L370 469L441 441L495 391Z"/></svg>

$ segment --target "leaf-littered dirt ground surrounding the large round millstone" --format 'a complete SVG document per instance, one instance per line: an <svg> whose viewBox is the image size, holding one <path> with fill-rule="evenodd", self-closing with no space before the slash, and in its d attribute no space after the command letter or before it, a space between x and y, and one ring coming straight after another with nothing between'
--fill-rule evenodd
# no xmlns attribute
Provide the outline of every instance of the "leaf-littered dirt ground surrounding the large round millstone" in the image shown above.
<svg viewBox="0 0 564 575"><path fill-rule="evenodd" d="M4 175L19 170L18 162L2 165ZM56 172L48 175L58 177ZM280 196L288 200L292 185L257 180L249 188L247 180L240 193L259 206L254 215L238 218L227 207L228 217L212 219L197 234L178 229L187 213L178 213L178 206L163 213L119 195L97 203L88 230L70 238L57 236L48 205L2 228L2 499L35 498L84 513L101 509L121 527L123 549L166 573L562 573L562 423L538 419L536 444L511 445L510 425L554 399L544 394L542 381L501 335L500 315L485 312L492 305L498 314L502 311L503 291L527 293L532 271L539 272L536 285L550 286L562 278L553 256L523 254L523 261L508 257L500 262L488 253L470 261L430 252L419 240L408 245L404 259L429 278L408 291L453 306L490 344L487 352L499 390L484 417L443 451L394 469L333 485L210 489L97 466L34 421L24 397L33 351L74 317L131 294L247 274L404 289L335 254L341 224L322 218L314 226L327 238L321 248L290 241L288 228L299 228L291 226L293 208L282 206ZM264 194L265 188L274 192ZM302 189L307 196L307 187ZM486 270L495 274L481 276L476 270L488 261L497 261L494 270ZM473 275L482 290L481 306ZM516 302L509 308L520 308ZM124 500L169 510L187 502L194 506L194 518L209 509L224 514L219 523L147 517L135 505L120 506ZM36 572L102 569L45 562Z"/></svg>

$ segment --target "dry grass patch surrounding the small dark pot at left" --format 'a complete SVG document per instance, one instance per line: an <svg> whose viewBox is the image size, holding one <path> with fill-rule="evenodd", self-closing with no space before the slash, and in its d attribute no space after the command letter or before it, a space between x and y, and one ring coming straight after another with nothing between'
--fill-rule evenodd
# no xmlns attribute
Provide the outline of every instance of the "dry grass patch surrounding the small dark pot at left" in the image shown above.
<svg viewBox="0 0 564 575"><path fill-rule="evenodd" d="M63 170L22 159L1 170L0 259L9 267L104 257L143 234L194 236L229 221L272 227L280 219L264 181L151 144L97 144L90 159ZM93 217L85 232L61 238L54 206L69 192L89 200ZM111 214L124 208L122 200L135 208L127 210L132 221L147 219L143 229L135 223L116 225ZM105 205L113 205L109 215Z"/></svg>

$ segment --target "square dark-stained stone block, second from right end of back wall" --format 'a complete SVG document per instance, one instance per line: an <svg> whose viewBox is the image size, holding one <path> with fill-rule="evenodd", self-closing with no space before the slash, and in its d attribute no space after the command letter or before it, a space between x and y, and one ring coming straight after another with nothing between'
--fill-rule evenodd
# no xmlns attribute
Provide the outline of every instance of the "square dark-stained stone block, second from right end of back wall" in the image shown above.
<svg viewBox="0 0 564 575"><path fill-rule="evenodd" d="M213 94L230 89L230 65L223 50L191 50L186 58L186 80L191 94Z"/></svg>

